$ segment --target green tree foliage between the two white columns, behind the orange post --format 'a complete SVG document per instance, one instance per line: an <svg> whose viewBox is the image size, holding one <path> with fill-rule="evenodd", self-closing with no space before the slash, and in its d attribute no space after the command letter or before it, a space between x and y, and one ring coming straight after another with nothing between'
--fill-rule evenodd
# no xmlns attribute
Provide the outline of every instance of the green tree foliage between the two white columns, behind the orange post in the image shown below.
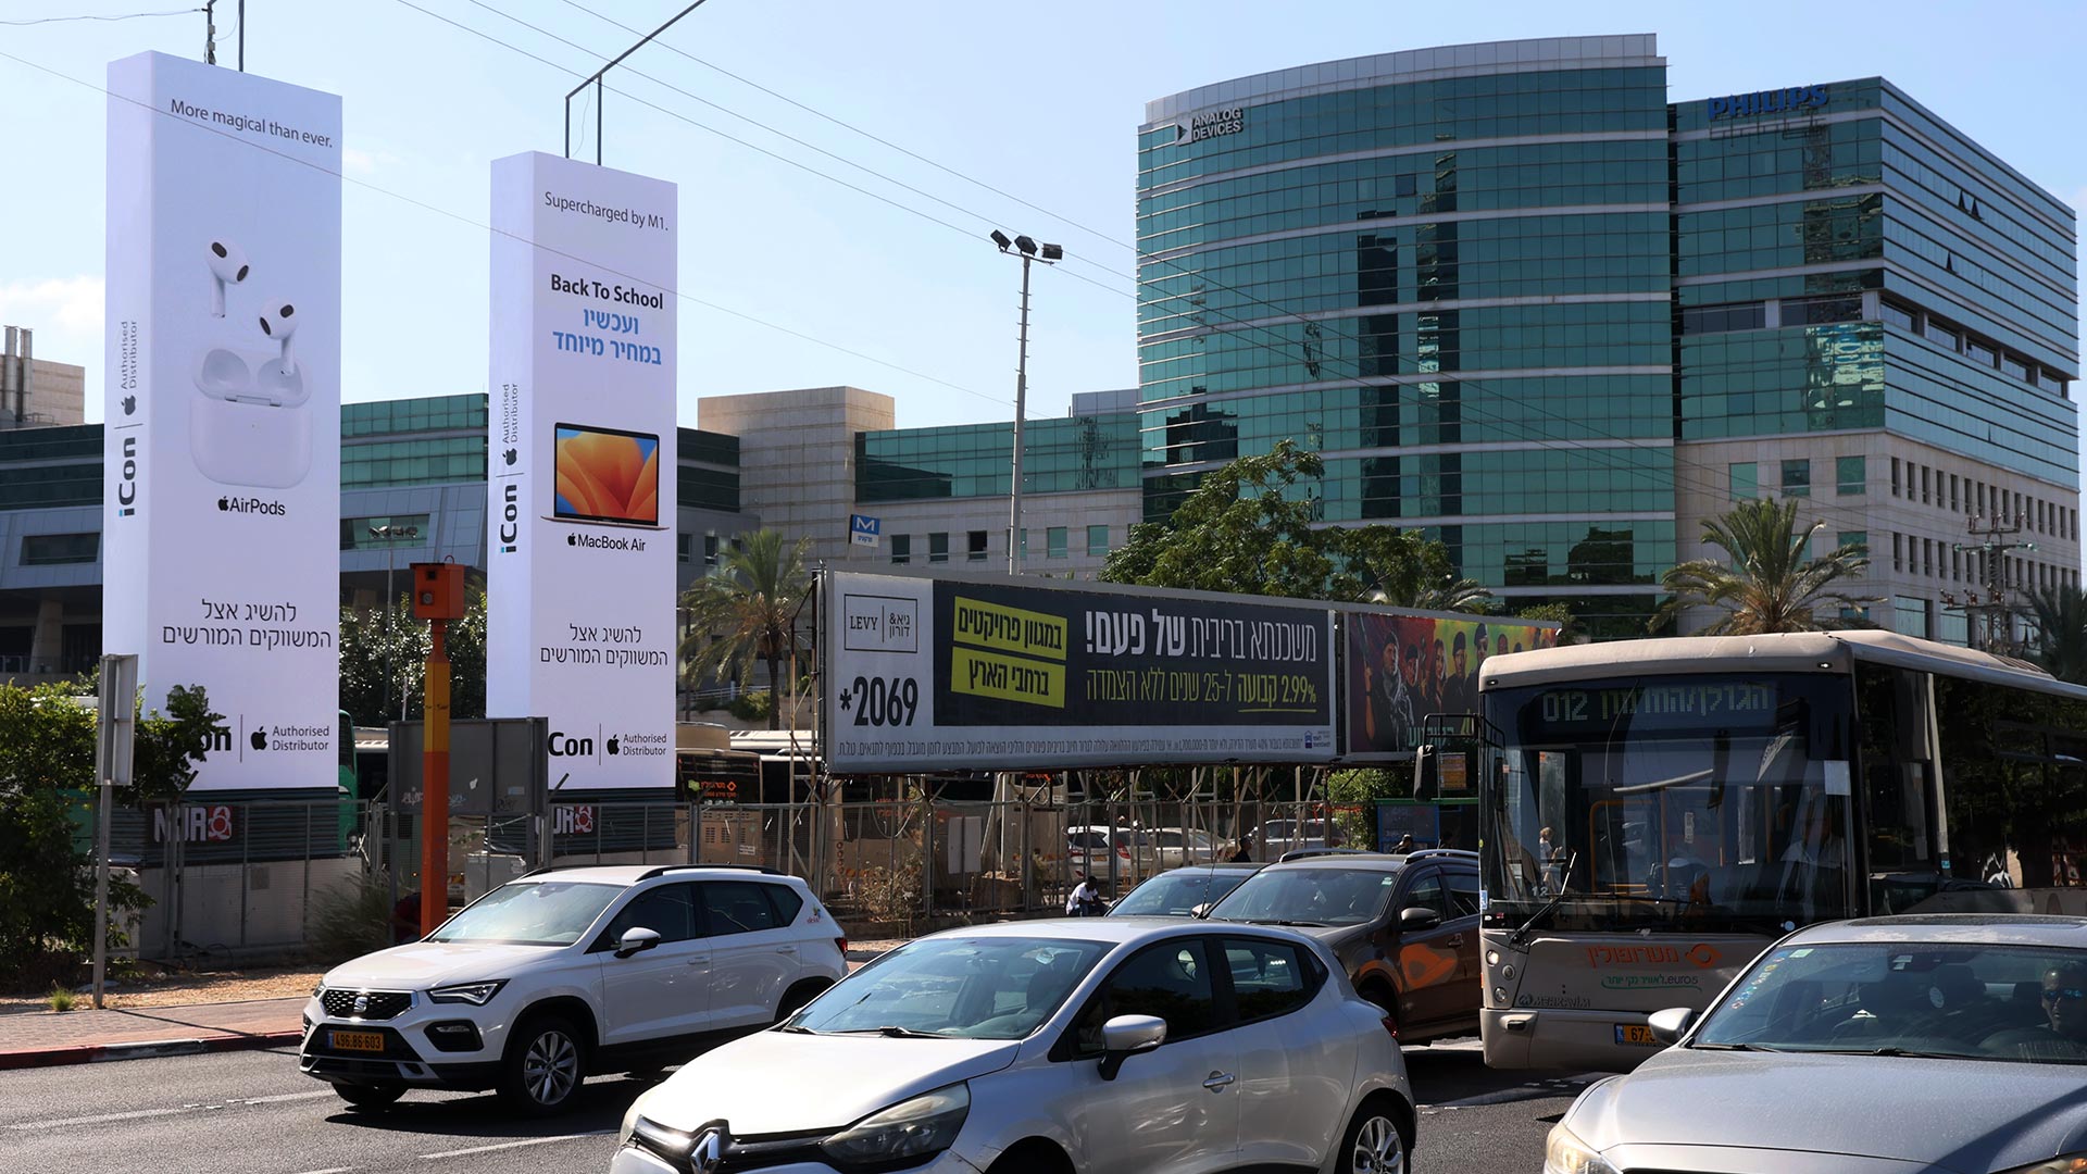
<svg viewBox="0 0 2087 1174"><path fill-rule="evenodd" d="M486 591L470 587L461 620L449 625L449 714L486 717ZM428 620L413 616L413 597L399 595L390 608L340 610L340 708L355 725L384 727L405 712L407 721L426 712ZM384 664L390 650L390 712L384 710Z"/></svg>

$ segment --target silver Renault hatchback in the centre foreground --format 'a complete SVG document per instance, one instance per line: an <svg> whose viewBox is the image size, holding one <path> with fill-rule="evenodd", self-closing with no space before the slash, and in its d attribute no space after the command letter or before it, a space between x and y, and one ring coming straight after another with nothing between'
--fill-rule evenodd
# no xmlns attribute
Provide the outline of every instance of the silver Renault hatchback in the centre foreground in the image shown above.
<svg viewBox="0 0 2087 1174"><path fill-rule="evenodd" d="M950 930L699 1055L614 1174L1405 1174L1384 1011L1311 938L1087 917Z"/></svg>

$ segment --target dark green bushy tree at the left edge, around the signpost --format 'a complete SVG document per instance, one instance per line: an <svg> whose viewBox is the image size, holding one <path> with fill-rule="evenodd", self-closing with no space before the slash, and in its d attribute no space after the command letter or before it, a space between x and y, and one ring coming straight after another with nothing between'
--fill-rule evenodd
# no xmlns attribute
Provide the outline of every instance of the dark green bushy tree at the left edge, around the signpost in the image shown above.
<svg viewBox="0 0 2087 1174"><path fill-rule="evenodd" d="M123 806L171 802L196 777L223 725L202 689L169 689L165 712L140 714L134 785ZM94 946L94 871L75 829L94 804L94 704L71 685L0 685L0 980L69 980ZM115 909L146 902L111 886ZM115 919L111 942L121 944Z"/></svg>

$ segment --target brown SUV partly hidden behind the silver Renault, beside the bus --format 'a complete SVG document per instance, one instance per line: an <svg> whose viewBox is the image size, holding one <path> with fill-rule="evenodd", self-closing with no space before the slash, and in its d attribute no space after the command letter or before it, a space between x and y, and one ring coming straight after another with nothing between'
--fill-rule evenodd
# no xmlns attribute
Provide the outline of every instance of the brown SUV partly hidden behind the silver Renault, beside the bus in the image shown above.
<svg viewBox="0 0 2087 1174"><path fill-rule="evenodd" d="M1296 925L1323 940L1398 1042L1478 1034L1478 852L1340 854L1269 865L1213 921Z"/></svg>

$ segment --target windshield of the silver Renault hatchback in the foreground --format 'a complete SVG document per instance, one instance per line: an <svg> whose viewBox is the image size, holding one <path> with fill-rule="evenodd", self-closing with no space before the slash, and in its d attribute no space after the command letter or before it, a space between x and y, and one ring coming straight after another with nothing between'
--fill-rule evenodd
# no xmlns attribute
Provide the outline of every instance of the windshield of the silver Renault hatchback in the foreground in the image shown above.
<svg viewBox="0 0 2087 1174"><path fill-rule="evenodd" d="M783 1028L1018 1040L1106 953L1106 942L1071 938L920 938L843 978Z"/></svg>

